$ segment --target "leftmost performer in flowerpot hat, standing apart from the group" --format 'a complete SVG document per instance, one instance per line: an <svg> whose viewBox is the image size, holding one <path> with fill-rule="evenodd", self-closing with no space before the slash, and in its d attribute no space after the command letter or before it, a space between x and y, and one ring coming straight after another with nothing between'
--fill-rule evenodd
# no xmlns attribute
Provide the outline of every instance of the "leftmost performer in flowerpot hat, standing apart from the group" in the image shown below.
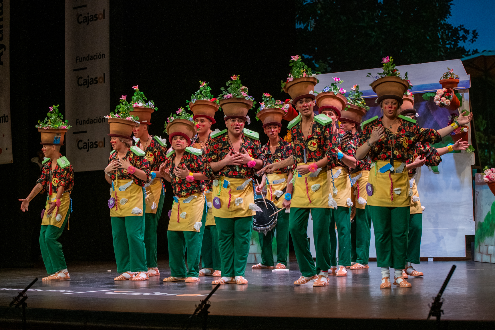
<svg viewBox="0 0 495 330"><path fill-rule="evenodd" d="M47 191L47 203L41 212L40 249L49 276L44 277L42 281L63 281L70 280L70 276L58 237L69 222L74 170L67 158L60 154L60 146L64 144L64 135L70 126L67 125L67 121L62 122L63 117L58 113L58 105L50 107L50 112L50 119L47 118L36 125L41 133L42 151L45 156L40 179L31 193L19 201L22 202L22 212L26 212L34 196Z"/></svg>

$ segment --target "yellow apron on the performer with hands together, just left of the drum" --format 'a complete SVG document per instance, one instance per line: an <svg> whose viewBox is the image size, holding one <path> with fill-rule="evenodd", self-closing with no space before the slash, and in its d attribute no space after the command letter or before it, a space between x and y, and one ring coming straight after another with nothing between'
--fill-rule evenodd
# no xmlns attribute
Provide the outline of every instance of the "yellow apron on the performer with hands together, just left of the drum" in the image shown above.
<svg viewBox="0 0 495 330"><path fill-rule="evenodd" d="M244 184L246 179L237 179L220 176L218 178L218 185L213 185L213 198L220 198L220 208L213 206L213 216L219 218L240 218L250 217L256 215L256 212L249 208L249 204L254 204L254 191L252 189L252 182L242 190L236 188ZM223 188L224 181L230 182L227 188ZM242 198L243 201L236 206L236 198ZM229 203L230 201L230 203Z"/></svg>

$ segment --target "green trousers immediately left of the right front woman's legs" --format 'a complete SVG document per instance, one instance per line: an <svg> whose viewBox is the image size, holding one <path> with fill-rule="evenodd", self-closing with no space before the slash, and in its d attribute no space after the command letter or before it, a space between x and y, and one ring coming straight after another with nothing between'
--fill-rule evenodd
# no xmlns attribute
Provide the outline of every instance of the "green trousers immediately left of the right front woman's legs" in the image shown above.
<svg viewBox="0 0 495 330"><path fill-rule="evenodd" d="M370 256L371 215L369 207L364 210L356 207L356 216L350 224L352 243L350 261L367 265Z"/></svg>

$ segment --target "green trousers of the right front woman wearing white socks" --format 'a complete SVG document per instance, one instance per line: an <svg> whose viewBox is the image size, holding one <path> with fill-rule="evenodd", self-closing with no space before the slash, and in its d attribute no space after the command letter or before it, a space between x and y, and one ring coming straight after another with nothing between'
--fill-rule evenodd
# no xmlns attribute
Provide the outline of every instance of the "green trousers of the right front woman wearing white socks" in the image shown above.
<svg viewBox="0 0 495 330"><path fill-rule="evenodd" d="M366 207L370 208L375 230L377 266L404 269L410 207Z"/></svg>

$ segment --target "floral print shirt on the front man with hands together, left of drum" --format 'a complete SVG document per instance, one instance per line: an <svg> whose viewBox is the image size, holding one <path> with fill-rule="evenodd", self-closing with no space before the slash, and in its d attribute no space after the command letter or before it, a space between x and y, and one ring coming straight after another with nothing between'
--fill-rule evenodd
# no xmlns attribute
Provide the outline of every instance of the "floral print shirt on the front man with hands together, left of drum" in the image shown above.
<svg viewBox="0 0 495 330"><path fill-rule="evenodd" d="M241 152L243 152L243 148L246 149L247 153L254 159L263 159L263 155L260 153L260 143L254 139L248 138L243 133L243 141L241 143ZM225 158L225 156L229 153L229 150L232 150L228 140L228 132L221 134L215 138L210 138L208 141L208 145L206 148L205 159L207 162L218 162ZM227 165L222 168L217 173L214 173L215 176L224 176L229 178L237 178L237 179L248 179L253 178L254 174L256 174L258 170L255 170L254 167L248 167L247 164L239 165L239 170L236 165Z"/></svg>

